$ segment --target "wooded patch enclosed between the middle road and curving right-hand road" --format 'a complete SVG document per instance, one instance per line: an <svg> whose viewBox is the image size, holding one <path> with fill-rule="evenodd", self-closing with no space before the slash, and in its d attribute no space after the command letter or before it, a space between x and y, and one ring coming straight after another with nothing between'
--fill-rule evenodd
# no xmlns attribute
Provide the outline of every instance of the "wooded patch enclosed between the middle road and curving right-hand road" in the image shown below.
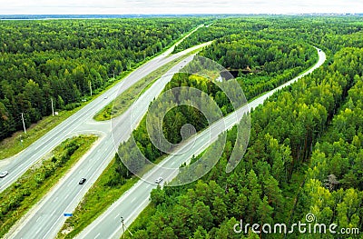
<svg viewBox="0 0 363 239"><path fill-rule="evenodd" d="M243 29L244 25L240 27ZM276 31L279 32L279 28ZM258 29L250 33L248 39L243 40L243 35L233 34L232 36L228 35L223 37L199 55L214 60L226 69L237 69L236 79L247 100L251 100L253 97L261 95L289 81L294 76L299 75L303 70L308 69L318 58L317 51L312 46L297 43L289 38L286 38L285 42L283 42L278 40L277 36L272 37L269 34L260 39L262 34ZM266 49L268 49L267 52ZM188 66L193 67L192 64ZM247 73L244 72L246 68L249 69ZM221 87L213 83L213 80L215 79L211 80L199 75L177 74L165 86L164 92L182 86L189 87L189 89L198 89L206 95L209 95L215 101L223 115L228 115L233 111L233 105L231 105L230 99ZM226 84L228 82L224 83L224 85ZM192 95L191 91L182 92L181 94ZM173 99L178 99L177 93L169 99L169 103L166 105L172 105L174 102ZM180 103L178 101L176 103ZM206 101L204 100L203 102ZM161 120L162 107L159 107L157 111L154 115L159 116L153 117L151 121L148 121L148 124L152 125L153 128ZM207 119L200 111L186 105L172 108L165 115L162 123L163 134L172 144L181 143L182 135L180 132L182 125L187 123L192 124L195 126L197 132L208 126ZM146 127L146 116L140 126L133 132L133 135L142 154L150 161L154 162L158 157L163 155L162 150L159 149L160 147L158 148L152 144L154 142L149 139ZM137 172L142 169L143 164L139 160L140 156L133 151L132 145L131 140L124 143L120 147L119 154L124 162L132 165L132 171Z"/></svg>

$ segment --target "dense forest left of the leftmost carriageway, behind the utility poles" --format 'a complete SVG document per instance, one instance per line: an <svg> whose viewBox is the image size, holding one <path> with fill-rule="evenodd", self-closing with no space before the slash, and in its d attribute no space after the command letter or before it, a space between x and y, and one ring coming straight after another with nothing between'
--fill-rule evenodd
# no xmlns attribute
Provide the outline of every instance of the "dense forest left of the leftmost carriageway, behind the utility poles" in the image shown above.
<svg viewBox="0 0 363 239"><path fill-rule="evenodd" d="M162 52L202 18L3 21L0 140L55 110L70 110Z"/></svg>

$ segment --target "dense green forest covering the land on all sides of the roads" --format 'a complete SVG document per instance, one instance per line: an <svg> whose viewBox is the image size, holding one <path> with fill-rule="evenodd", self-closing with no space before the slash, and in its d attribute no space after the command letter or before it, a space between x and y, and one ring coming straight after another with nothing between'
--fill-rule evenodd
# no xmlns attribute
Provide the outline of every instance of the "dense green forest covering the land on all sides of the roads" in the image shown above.
<svg viewBox="0 0 363 239"><path fill-rule="evenodd" d="M362 231L362 17L266 15L2 22L0 140L21 129L21 113L25 113L26 125L35 123L51 114L51 98L57 110L72 109L90 95L90 84L94 92L102 91L114 77L161 53L201 24L205 27L174 52L212 40L199 55L231 73L247 101L314 65L318 60L314 46L321 48L328 59L314 73L275 93L250 113L249 145L231 173L226 173L226 165L233 147L239 146L235 145L237 126L224 133L226 144L216 141L204 153L213 154L223 147L211 172L191 184L166 184L154 189L151 204L129 228L132 238L363 238L358 234L298 231L255 234L249 230L237 234L233 230L240 221L290 227L309 223L307 215L313 214L316 223L338 224L337 230ZM219 86L228 85L228 80L218 83L213 76L210 72L205 77L174 75L163 93L183 86L198 89L221 109L221 115L212 115L212 121L217 120L217 116L231 114L233 105ZM192 92L172 95L165 105L174 105L172 100L180 101L182 94ZM201 108L208 106L203 101L198 104ZM165 105L160 105L156 115ZM154 116L151 120L147 123L144 117L132 134L142 154L153 163L167 154L152 144L147 124L162 123L162 133L172 144L190 135L181 134L185 124L194 125L196 131L209 126L201 111L186 105L173 107L163 118ZM142 172L148 166L136 153L132 141L120 145L109 167L111 173L104 180L107 189L130 182L132 173L125 162L132 165L132 172ZM194 155L191 162L200 157Z"/></svg>

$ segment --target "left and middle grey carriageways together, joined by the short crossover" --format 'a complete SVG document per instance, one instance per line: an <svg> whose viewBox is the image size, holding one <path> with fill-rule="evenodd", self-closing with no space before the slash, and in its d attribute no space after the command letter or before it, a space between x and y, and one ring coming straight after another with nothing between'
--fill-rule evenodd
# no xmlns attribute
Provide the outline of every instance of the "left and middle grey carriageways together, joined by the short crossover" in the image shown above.
<svg viewBox="0 0 363 239"><path fill-rule="evenodd" d="M112 89L93 100L93 102L84 106L83 109L72 115L64 123L56 126L50 133L45 134L44 137L25 149L24 152L17 155L10 164L5 165L1 170L9 171L9 175L1 180L2 191L8 185L15 182L20 175L25 173L27 168L42 158L44 154L47 154L56 145L62 143L64 139L77 134L100 135L100 139L94 144L93 148L87 154L83 155L83 158L74 165L72 170L64 175L60 182L20 222L15 224L5 237L54 238L62 224L64 224L64 213L72 213L74 211L76 205L81 202L83 195L86 194L99 175L102 174L104 168L111 162L116 152L111 134L111 121L95 122L93 115L103 109L105 105L111 103L117 95L123 93L145 75L149 75L155 69L172 62L181 55L189 54L191 51L209 44L211 43L197 45L176 55L168 56L173 50L172 47L164 54L136 69L131 75L123 79L121 83L115 85ZM184 61L190 60L191 56ZM174 66L172 71L175 71L175 67L181 67L184 64L182 62ZM154 88L151 87L151 89ZM139 113L137 114L138 117L135 118L136 123L142 119L142 115L147 111L150 102L159 93L160 90L158 88L153 94L142 95L144 100L137 107ZM120 119L123 118L128 119L125 114L120 117ZM124 139L127 139L132 132L129 124L127 125L128 133L123 131ZM87 181L85 184L79 185L78 181L82 177L87 178Z"/></svg>

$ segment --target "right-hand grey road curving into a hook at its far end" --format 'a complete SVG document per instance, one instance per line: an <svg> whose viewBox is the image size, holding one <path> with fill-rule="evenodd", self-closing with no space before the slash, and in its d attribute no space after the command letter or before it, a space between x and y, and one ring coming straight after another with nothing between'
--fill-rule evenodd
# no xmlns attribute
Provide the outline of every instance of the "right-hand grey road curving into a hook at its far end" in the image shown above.
<svg viewBox="0 0 363 239"><path fill-rule="evenodd" d="M280 85L268 94L261 95L259 98L250 102L249 105L241 107L231 115L227 115L220 121L211 124L209 128L201 133L192 136L178 149L180 152L184 152L184 154L177 154L178 152L176 152L176 154L165 158L158 164L158 167L154 167L150 172L145 174L143 180L139 180L138 183L134 184L130 190L123 194L119 200L113 203L107 211L94 220L92 224L87 226L76 238L120 238L123 234L121 216L124 218L125 226L128 227L149 204L150 193L153 188L156 188L156 184L150 184L148 182L153 182L159 176L162 176L166 182L172 181L178 174L178 169L170 170L171 168L175 168L184 162L188 163L192 155L201 154L201 152L203 152L212 142L217 140L218 135L231 129L233 125L238 124L242 115L250 112L251 109L256 108L257 106L262 105L267 98L283 87L295 83L301 77L309 75L319 68L319 66L323 65L326 61L326 55L318 48L317 52L319 54L319 61L308 71L290 80L288 83ZM185 148L189 148L189 150L184 151Z"/></svg>

